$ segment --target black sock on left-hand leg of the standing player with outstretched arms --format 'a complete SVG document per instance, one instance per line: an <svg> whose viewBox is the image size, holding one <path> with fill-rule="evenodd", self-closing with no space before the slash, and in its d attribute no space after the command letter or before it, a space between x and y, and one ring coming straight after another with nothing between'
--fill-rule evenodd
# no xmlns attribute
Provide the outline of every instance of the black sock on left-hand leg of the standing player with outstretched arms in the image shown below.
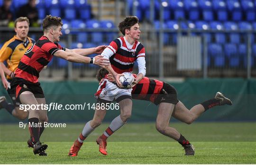
<svg viewBox="0 0 256 165"><path fill-rule="evenodd" d="M37 141L39 141L39 127L38 127L38 118L30 118L28 119L28 129L30 132L30 136L32 138L32 142L34 144L37 143Z"/></svg>

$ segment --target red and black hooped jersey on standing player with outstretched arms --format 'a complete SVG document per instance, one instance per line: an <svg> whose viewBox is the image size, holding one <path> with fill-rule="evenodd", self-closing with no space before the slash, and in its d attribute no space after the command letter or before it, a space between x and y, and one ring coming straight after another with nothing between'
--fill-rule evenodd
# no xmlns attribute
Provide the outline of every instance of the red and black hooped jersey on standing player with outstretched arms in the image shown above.
<svg viewBox="0 0 256 165"><path fill-rule="evenodd" d="M42 36L22 56L15 77L23 78L29 82L37 83L39 72L52 60L58 50L64 50L58 43L51 42L46 36Z"/></svg>

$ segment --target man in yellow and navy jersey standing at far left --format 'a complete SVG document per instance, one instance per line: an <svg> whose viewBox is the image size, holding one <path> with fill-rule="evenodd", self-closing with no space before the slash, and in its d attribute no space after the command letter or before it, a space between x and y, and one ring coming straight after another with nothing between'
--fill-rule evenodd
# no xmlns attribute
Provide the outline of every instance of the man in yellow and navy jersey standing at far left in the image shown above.
<svg viewBox="0 0 256 165"><path fill-rule="evenodd" d="M7 75L8 82L14 77L14 72L18 68L21 57L35 43L34 39L27 36L29 30L29 20L27 17L18 17L14 22L14 26L16 35L4 43L0 50L0 68ZM7 67L4 65L4 61L7 62ZM0 96L0 109L4 108L14 117L24 120L27 118L27 112L19 110L19 103L15 99L15 94L11 93L10 87L5 86L6 78L1 75L2 83L7 89L13 104L8 104L5 96Z"/></svg>

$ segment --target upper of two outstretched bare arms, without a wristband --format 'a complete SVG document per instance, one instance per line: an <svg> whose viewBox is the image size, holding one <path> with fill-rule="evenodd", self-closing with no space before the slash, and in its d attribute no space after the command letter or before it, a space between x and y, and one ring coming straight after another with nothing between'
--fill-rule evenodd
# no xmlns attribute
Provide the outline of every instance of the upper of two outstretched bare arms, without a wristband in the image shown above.
<svg viewBox="0 0 256 165"><path fill-rule="evenodd" d="M67 49L66 48L66 52L74 52L82 56L87 56L93 53L101 54L106 47L107 47L106 45L101 45L101 46L97 46L96 48L87 48L87 49Z"/></svg>

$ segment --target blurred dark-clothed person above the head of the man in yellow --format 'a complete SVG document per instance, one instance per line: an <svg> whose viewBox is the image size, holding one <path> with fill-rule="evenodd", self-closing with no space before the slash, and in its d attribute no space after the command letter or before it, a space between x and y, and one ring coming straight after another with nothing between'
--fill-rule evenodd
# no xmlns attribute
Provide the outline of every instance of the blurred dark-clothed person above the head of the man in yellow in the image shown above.
<svg viewBox="0 0 256 165"><path fill-rule="evenodd" d="M28 3L21 6L17 12L17 17L27 17L30 22L30 26L39 27L38 11L36 7L36 0L28 0Z"/></svg>

